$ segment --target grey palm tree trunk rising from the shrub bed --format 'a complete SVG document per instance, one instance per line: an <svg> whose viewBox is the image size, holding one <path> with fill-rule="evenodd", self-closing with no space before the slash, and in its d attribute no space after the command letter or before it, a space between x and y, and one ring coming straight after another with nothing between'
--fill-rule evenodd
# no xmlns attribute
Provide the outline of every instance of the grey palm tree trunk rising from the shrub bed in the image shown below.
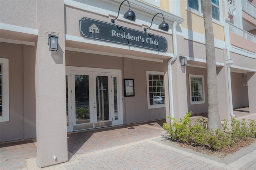
<svg viewBox="0 0 256 170"><path fill-rule="evenodd" d="M222 128L218 109L218 87L215 61L215 46L212 27L212 1L202 0L204 17L206 67L207 67L207 90L208 90L208 124L207 128L217 130Z"/></svg>

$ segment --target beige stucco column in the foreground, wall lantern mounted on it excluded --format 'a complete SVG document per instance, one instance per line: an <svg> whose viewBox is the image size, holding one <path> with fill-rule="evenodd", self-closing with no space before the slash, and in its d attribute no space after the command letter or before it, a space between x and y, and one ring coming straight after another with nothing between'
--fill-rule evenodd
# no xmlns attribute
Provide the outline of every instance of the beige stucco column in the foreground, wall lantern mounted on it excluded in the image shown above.
<svg viewBox="0 0 256 170"><path fill-rule="evenodd" d="M38 166L44 167L68 160L64 1L37 1L37 9L36 138ZM49 51L47 32L59 37L58 51Z"/></svg>

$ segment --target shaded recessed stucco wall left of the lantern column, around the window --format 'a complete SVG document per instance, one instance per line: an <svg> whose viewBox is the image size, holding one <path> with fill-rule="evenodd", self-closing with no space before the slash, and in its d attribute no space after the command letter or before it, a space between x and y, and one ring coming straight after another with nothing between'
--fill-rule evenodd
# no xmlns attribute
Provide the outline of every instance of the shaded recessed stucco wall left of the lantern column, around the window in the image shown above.
<svg viewBox="0 0 256 170"><path fill-rule="evenodd" d="M9 59L10 110L10 121L0 123L1 142L35 138L34 47L1 42L0 56ZM24 67L24 65L26 65L26 67ZM25 119L26 125L24 125Z"/></svg>

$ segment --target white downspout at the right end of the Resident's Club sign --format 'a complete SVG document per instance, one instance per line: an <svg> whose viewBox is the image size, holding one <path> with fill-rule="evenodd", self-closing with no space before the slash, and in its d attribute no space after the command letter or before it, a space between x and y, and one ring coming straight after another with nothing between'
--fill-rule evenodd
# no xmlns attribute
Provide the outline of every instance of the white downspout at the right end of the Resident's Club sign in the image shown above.
<svg viewBox="0 0 256 170"><path fill-rule="evenodd" d="M172 62L177 59L178 48L177 48L177 34L176 34L176 25L177 22L174 21L172 26L172 42L173 42L173 57L168 61L168 78L169 78L169 105L170 105L170 117L174 117L174 109L173 109L173 93L172 93ZM170 123L172 123L172 119L170 119Z"/></svg>

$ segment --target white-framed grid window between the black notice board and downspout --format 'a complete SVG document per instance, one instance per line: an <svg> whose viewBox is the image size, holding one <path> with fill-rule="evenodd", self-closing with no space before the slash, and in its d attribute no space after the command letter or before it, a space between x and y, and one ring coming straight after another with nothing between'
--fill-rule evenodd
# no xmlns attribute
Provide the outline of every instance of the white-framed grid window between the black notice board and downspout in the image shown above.
<svg viewBox="0 0 256 170"><path fill-rule="evenodd" d="M146 71L148 109L165 107L164 72Z"/></svg>

